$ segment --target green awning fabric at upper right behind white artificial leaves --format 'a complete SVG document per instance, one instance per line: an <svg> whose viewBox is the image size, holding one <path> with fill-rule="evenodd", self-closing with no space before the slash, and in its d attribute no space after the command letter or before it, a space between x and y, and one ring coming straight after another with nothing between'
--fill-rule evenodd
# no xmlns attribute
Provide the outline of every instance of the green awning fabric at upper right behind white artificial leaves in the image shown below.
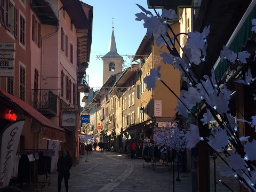
<svg viewBox="0 0 256 192"><path fill-rule="evenodd" d="M245 12L244 16L246 15L246 12ZM255 18L256 18L256 6L254 3L254 7L253 7L251 13L245 19L242 27L238 30L233 41L230 43L229 46L227 45L231 51L234 51L235 53L242 51L242 47L245 47L247 41L252 38L252 34L253 34L253 31L251 31L251 29L253 27L252 19L255 19ZM242 20L243 20L243 18L241 19L241 21ZM221 79L222 75L226 72L228 66L229 66L229 63L226 60L223 60L223 62L219 61L219 63L217 63L217 67L215 68L214 73L218 80Z"/></svg>

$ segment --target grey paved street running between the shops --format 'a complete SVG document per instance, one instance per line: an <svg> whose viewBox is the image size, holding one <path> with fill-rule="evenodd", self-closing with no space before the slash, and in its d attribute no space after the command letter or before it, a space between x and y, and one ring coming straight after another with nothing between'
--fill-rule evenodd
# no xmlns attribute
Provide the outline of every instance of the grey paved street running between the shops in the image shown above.
<svg viewBox="0 0 256 192"><path fill-rule="evenodd" d="M130 159L113 152L93 151L81 158L78 165L70 170L69 191L172 191L172 171L157 166L153 171L143 159ZM145 163L145 168L143 168ZM175 179L177 172L175 172ZM180 173L180 182L175 181L175 191L191 191L189 173ZM57 191L57 174L51 175L51 185L41 191ZM62 191L65 191L62 181Z"/></svg>

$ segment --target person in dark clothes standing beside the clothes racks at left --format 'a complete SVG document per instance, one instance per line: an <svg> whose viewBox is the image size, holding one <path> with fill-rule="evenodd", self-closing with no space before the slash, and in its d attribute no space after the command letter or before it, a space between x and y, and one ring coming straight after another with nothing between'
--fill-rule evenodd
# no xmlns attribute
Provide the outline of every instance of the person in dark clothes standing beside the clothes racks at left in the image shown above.
<svg viewBox="0 0 256 192"><path fill-rule="evenodd" d="M68 192L68 179L70 177L69 170L72 167L72 159L70 157L69 151L67 148L62 150L62 154L58 159L57 163L58 171L58 192L61 190L61 182L64 178L66 192Z"/></svg>

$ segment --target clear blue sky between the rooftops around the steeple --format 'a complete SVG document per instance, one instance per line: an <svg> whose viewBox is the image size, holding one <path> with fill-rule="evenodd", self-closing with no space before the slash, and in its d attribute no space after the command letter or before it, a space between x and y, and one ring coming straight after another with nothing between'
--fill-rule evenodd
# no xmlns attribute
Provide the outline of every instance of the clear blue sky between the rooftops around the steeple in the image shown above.
<svg viewBox="0 0 256 192"><path fill-rule="evenodd" d="M114 18L114 33L117 52L120 55L134 55L137 51L146 29L143 21L135 21L135 14L141 10L135 3L147 8L147 0L82 0L93 6L92 49L89 68L89 86L101 87L103 62L97 60L97 55L105 55L109 51L112 33L112 18ZM150 10L153 12L153 10ZM130 59L123 57L130 64Z"/></svg>

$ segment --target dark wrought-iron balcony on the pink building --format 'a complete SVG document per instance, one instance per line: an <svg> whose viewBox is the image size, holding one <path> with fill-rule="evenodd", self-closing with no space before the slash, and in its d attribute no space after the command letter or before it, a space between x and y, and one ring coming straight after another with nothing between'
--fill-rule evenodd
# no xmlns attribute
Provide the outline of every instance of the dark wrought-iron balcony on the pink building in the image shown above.
<svg viewBox="0 0 256 192"><path fill-rule="evenodd" d="M50 90L31 90L31 106L43 115L57 114L57 95Z"/></svg>

